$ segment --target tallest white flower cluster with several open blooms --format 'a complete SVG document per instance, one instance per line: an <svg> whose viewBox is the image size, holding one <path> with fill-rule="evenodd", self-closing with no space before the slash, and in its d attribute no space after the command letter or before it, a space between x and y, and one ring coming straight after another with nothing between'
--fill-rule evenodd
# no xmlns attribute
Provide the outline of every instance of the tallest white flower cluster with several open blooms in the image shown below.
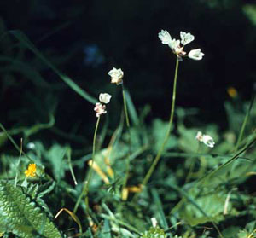
<svg viewBox="0 0 256 238"><path fill-rule="evenodd" d="M160 38L162 44L168 44L168 46L172 49L172 52L177 55L179 61L182 61L182 57L187 54L185 51L183 51L184 46L195 39L192 34L186 32L180 32L181 41L175 38L172 39L169 32L165 30L161 30L161 32L158 33L158 37ZM204 55L205 54L201 52L201 49L192 49L188 56L192 60L200 61Z"/></svg>

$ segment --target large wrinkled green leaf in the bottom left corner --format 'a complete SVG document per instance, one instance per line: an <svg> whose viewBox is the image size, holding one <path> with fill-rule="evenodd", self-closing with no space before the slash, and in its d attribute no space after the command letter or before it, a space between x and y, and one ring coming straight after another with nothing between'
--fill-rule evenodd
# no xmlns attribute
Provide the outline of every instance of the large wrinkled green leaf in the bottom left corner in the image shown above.
<svg viewBox="0 0 256 238"><path fill-rule="evenodd" d="M36 190L16 187L7 181L0 181L1 230L12 232L22 238L61 238L60 231L35 199Z"/></svg>

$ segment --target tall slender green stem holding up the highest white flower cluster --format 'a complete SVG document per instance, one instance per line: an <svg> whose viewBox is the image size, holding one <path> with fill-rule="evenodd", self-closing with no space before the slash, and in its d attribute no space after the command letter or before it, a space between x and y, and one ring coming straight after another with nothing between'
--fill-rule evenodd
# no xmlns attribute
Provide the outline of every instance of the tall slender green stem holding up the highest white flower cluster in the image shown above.
<svg viewBox="0 0 256 238"><path fill-rule="evenodd" d="M169 125L168 129L166 131L166 136L164 138L164 141L160 147L160 150L156 154L154 161L152 165L150 166L148 173L143 179L143 187L147 185L148 180L152 176L152 173L154 172L155 166L157 165L158 161L160 160L160 157L166 147L166 142L168 141L168 138L170 136L171 130L172 130L172 121L173 121L173 116L174 116L174 109L175 109L175 100L176 100L176 85L177 85L177 71L178 71L178 59L176 60L176 67L175 67L175 74L174 74L174 82L173 82L173 90L172 90L172 108L171 108L171 115L169 119Z"/></svg>

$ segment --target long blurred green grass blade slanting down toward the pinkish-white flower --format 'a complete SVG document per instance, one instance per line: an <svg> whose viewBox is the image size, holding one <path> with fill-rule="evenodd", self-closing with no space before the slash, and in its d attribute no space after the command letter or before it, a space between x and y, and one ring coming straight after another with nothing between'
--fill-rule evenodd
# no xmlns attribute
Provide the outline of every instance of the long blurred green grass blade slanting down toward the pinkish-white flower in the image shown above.
<svg viewBox="0 0 256 238"><path fill-rule="evenodd" d="M19 30L14 30L9 31L9 33L12 34L15 38L17 38L21 44L25 45L27 49L30 49L35 55L37 55L41 61L43 61L49 68L51 68L61 78L61 80L63 80L72 90L78 93L79 96L82 96L85 100L91 102L92 104L95 104L97 102L95 97L90 96L89 93L81 89L79 85L74 83L71 78L62 73L50 61L48 61L44 57L44 55L41 54L40 51L35 47L35 45L32 44L32 42L29 40L29 38L26 37L26 35L23 32Z"/></svg>

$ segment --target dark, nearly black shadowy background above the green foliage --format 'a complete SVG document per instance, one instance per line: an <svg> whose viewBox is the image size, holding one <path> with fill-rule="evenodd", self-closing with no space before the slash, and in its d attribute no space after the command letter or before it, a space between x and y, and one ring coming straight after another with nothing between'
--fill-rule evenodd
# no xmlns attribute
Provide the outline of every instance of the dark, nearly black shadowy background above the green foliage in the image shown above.
<svg viewBox="0 0 256 238"><path fill-rule="evenodd" d="M160 43L158 32L167 30L173 38L179 38L180 31L191 32L195 41L186 51L201 48L205 57L180 64L177 106L199 108L202 123L224 127L224 101L230 100L227 88L235 87L243 101L253 95L253 8L252 1L236 0L1 0L0 53L18 57L13 50L17 41L5 33L21 30L90 95L113 94L109 111L118 115L120 88L109 84L108 71L120 67L137 111L146 104L151 106L150 123L155 117L169 116L175 67L175 55ZM49 108L55 104L57 128L67 133L76 130L90 138L96 121L93 105L28 50L23 50L20 59L51 86L33 84L26 73L8 71L8 64L2 63L1 122L7 128L47 122ZM111 120L116 125L119 116Z"/></svg>

